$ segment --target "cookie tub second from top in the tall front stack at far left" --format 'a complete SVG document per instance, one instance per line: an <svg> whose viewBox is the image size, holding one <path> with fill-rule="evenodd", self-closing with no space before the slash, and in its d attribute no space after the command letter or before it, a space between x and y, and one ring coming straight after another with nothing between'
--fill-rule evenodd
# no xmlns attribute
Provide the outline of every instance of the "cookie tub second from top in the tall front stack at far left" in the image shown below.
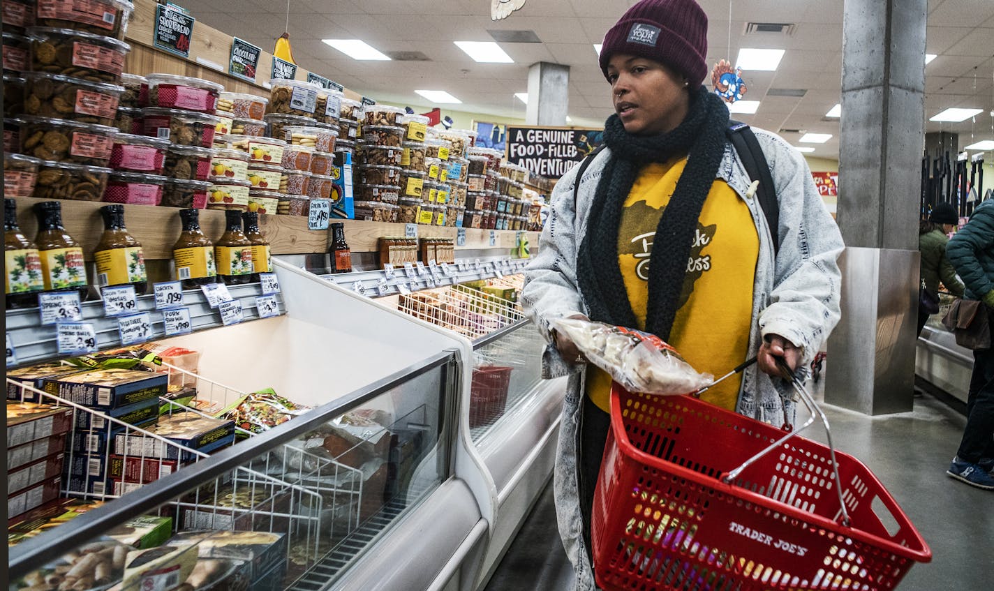
<svg viewBox="0 0 994 591"><path fill-rule="evenodd" d="M4 46L7 45L6 37L4 33ZM131 50L131 46L112 37L73 29L32 27L28 30L28 38L31 40L31 69L34 72L103 82L118 82L124 71L124 57ZM5 54L6 51L4 47ZM6 62L7 56L4 55Z"/></svg>

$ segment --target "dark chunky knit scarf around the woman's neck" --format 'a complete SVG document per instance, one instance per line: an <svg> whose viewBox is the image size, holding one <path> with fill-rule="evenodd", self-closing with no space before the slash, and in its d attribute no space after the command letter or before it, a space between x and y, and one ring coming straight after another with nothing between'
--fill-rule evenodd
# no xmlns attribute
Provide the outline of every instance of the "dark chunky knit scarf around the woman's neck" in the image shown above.
<svg viewBox="0 0 994 591"><path fill-rule="evenodd" d="M632 135L617 114L607 118L604 143L611 149L611 158L597 184L577 261L580 292L591 320L636 327L618 266L624 202L644 165L688 154L687 166L656 226L649 265L645 328L664 341L669 339L698 218L725 154L728 125L728 107L704 86L691 94L683 122L663 135Z"/></svg>

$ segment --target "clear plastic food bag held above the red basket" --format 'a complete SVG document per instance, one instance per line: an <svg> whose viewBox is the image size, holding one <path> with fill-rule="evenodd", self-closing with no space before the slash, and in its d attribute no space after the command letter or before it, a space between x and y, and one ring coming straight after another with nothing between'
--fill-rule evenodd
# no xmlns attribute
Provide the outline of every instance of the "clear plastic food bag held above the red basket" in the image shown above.
<svg viewBox="0 0 994 591"><path fill-rule="evenodd" d="M587 361L631 392L687 394L715 381L714 375L691 368L655 335L576 319L554 320L552 327L568 336Z"/></svg>

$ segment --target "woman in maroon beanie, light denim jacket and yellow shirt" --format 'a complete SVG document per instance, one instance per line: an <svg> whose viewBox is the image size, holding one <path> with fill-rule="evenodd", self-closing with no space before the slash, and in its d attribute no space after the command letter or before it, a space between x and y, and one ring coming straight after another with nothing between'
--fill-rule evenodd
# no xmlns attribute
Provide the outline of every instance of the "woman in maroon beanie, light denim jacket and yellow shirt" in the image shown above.
<svg viewBox="0 0 994 591"><path fill-rule="evenodd" d="M590 512L611 382L550 323L642 329L716 375L758 356L702 397L779 426L794 405L789 384L771 377L776 358L804 371L839 319L838 228L801 155L757 129L778 214L767 224L757 179L728 139L729 109L702 85L707 29L694 0L643 0L607 32L605 148L581 178L577 167L557 184L526 275L525 308L550 342L544 375L570 375L555 496L580 590L595 588Z"/></svg>

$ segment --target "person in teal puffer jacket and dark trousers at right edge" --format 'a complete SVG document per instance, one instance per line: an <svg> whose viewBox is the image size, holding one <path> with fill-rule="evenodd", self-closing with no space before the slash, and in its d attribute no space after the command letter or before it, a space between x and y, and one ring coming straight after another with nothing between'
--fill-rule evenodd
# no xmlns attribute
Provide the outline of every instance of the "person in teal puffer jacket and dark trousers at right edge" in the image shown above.
<svg viewBox="0 0 994 591"><path fill-rule="evenodd" d="M946 246L963 279L965 297L982 301L994 318L994 200L973 211ZM973 352L966 397L966 428L946 474L978 489L994 491L994 349Z"/></svg>

